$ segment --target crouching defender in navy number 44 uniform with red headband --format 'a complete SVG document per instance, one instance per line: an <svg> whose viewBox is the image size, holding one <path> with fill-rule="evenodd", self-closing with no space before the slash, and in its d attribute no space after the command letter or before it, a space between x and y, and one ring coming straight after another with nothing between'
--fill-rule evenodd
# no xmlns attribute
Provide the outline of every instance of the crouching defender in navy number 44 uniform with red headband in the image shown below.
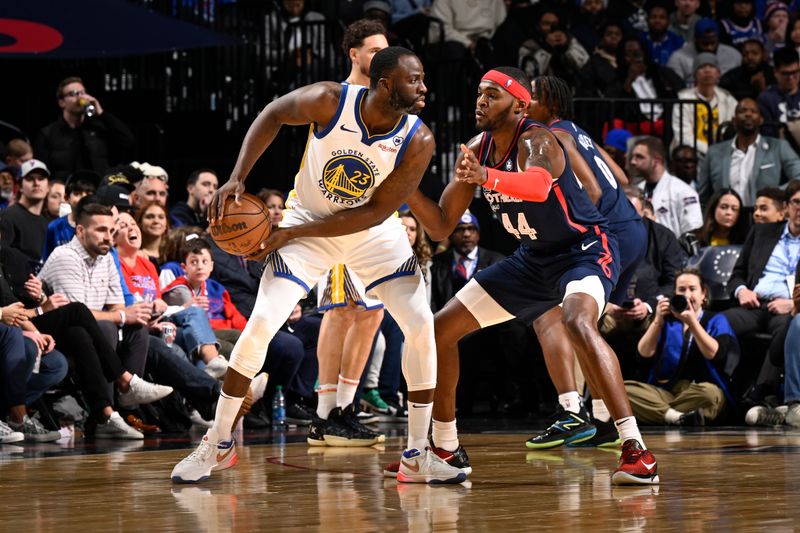
<svg viewBox="0 0 800 533"><path fill-rule="evenodd" d="M486 73L475 110L483 133L461 146L455 180L438 205L419 191L408 201L438 240L455 227L475 187L483 186L506 230L521 241L514 255L478 272L436 314L433 443L450 464L469 466L455 422L458 341L514 317L535 325L561 304L567 337L587 379L606 399L623 441L612 482L658 483L656 460L632 415L616 355L597 329L618 276L616 240L582 190L561 143L544 124L525 118L530 99L530 80L519 69Z"/></svg>

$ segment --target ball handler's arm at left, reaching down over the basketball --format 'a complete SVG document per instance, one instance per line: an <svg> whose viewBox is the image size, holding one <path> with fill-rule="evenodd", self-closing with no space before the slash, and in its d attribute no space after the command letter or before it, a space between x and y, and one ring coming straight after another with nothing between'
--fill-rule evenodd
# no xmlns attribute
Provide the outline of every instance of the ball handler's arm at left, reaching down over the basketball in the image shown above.
<svg viewBox="0 0 800 533"><path fill-rule="evenodd" d="M336 114L341 93L341 84L326 81L301 87L267 104L247 130L228 182L214 194L208 206L209 220L222 217L228 196L235 196L239 202L250 170L281 126L315 123L324 128Z"/></svg>

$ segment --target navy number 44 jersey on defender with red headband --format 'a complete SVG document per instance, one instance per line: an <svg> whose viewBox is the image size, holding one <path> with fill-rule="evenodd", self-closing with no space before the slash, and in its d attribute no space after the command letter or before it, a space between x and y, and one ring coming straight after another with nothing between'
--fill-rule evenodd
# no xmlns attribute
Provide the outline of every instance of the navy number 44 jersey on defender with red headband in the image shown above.
<svg viewBox="0 0 800 533"><path fill-rule="evenodd" d="M491 160L494 142L492 134L484 132L478 157L481 164L506 172L519 171L517 163L519 136L534 127L547 129L547 126L540 122L521 120L517 124L511 146L499 161ZM564 147L561 146L561 149ZM606 229L606 219L583 190L583 186L569 165L566 152L564 159L566 162L564 172L553 181L550 194L544 202L527 202L483 189L483 195L491 205L492 211L500 217L506 231L520 239L531 250L542 252L563 250L580 241L590 231L599 233Z"/></svg>

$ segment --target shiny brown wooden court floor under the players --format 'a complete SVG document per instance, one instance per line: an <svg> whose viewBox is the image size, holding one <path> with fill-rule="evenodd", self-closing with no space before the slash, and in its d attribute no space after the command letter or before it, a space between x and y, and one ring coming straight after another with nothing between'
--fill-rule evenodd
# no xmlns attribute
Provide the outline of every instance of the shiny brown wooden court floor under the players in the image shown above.
<svg viewBox="0 0 800 533"><path fill-rule="evenodd" d="M5 445L0 531L800 529L800 432L648 433L658 487L612 487L614 451L532 452L529 436L463 436L474 473L442 487L382 477L399 437L379 449L245 442L234 469L201 485L169 480L187 449L24 458Z"/></svg>

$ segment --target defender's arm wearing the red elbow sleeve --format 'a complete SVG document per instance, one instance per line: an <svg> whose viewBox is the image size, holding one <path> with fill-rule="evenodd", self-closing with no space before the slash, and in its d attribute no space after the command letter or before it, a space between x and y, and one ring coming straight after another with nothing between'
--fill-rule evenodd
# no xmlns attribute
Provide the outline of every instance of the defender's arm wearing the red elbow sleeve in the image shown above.
<svg viewBox="0 0 800 533"><path fill-rule="evenodd" d="M504 172L482 166L475 154L462 145L465 163L456 170L456 181L483 185L487 189L529 202L543 202L553 180L564 172L564 152L555 136L545 128L531 128L517 145L522 172Z"/></svg>

